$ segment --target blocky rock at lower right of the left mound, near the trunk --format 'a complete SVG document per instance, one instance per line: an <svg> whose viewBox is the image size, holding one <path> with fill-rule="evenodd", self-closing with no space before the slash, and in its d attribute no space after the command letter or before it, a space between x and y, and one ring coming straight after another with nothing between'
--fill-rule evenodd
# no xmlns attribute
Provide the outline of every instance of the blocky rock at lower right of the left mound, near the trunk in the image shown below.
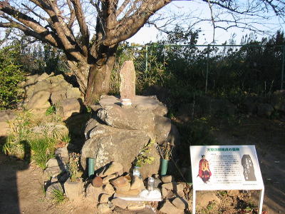
<svg viewBox="0 0 285 214"><path fill-rule="evenodd" d="M58 112L60 116L63 116L63 118L68 118L73 114L81 113L81 103L83 103L81 98L69 98L62 100L58 103L56 112Z"/></svg>

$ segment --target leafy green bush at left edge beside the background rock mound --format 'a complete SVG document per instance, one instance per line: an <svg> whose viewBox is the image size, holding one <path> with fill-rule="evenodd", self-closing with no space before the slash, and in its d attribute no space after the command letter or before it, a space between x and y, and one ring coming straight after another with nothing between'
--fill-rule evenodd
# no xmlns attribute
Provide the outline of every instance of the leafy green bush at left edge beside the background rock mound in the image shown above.
<svg viewBox="0 0 285 214"><path fill-rule="evenodd" d="M0 50L0 109L14 108L19 101L19 86L24 81L24 72L15 63L19 51L15 46Z"/></svg>

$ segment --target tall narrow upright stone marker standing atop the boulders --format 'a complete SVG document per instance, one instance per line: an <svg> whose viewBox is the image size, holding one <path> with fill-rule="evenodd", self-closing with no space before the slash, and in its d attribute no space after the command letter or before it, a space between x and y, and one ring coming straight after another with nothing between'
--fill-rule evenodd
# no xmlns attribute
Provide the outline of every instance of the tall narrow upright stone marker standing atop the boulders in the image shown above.
<svg viewBox="0 0 285 214"><path fill-rule="evenodd" d="M135 98L135 66L133 61L125 61L120 68L120 98Z"/></svg>

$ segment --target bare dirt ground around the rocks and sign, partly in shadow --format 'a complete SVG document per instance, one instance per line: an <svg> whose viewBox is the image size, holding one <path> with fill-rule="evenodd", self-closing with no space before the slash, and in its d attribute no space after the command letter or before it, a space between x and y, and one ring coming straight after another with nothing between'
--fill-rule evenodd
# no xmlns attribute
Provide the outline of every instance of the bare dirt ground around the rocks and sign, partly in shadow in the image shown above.
<svg viewBox="0 0 285 214"><path fill-rule="evenodd" d="M265 118L235 118L234 123L215 121L214 137L219 145L256 145L265 185L263 210L285 213L285 121ZM96 213L86 201L61 205L44 198L42 171L33 163L0 154L0 213ZM207 204L199 213L237 213L241 201L257 204L256 192L216 192L219 204Z"/></svg>

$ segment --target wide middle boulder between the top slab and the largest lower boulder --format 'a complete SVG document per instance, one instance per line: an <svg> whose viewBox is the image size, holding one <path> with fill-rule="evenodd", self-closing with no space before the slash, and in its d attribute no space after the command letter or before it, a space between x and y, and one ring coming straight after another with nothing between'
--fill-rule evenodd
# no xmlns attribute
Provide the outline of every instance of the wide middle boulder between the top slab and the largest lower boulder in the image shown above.
<svg viewBox="0 0 285 214"><path fill-rule="evenodd" d="M154 116L152 111L121 108L120 106L102 108L98 111L98 118L108 126L145 131L154 128Z"/></svg>

